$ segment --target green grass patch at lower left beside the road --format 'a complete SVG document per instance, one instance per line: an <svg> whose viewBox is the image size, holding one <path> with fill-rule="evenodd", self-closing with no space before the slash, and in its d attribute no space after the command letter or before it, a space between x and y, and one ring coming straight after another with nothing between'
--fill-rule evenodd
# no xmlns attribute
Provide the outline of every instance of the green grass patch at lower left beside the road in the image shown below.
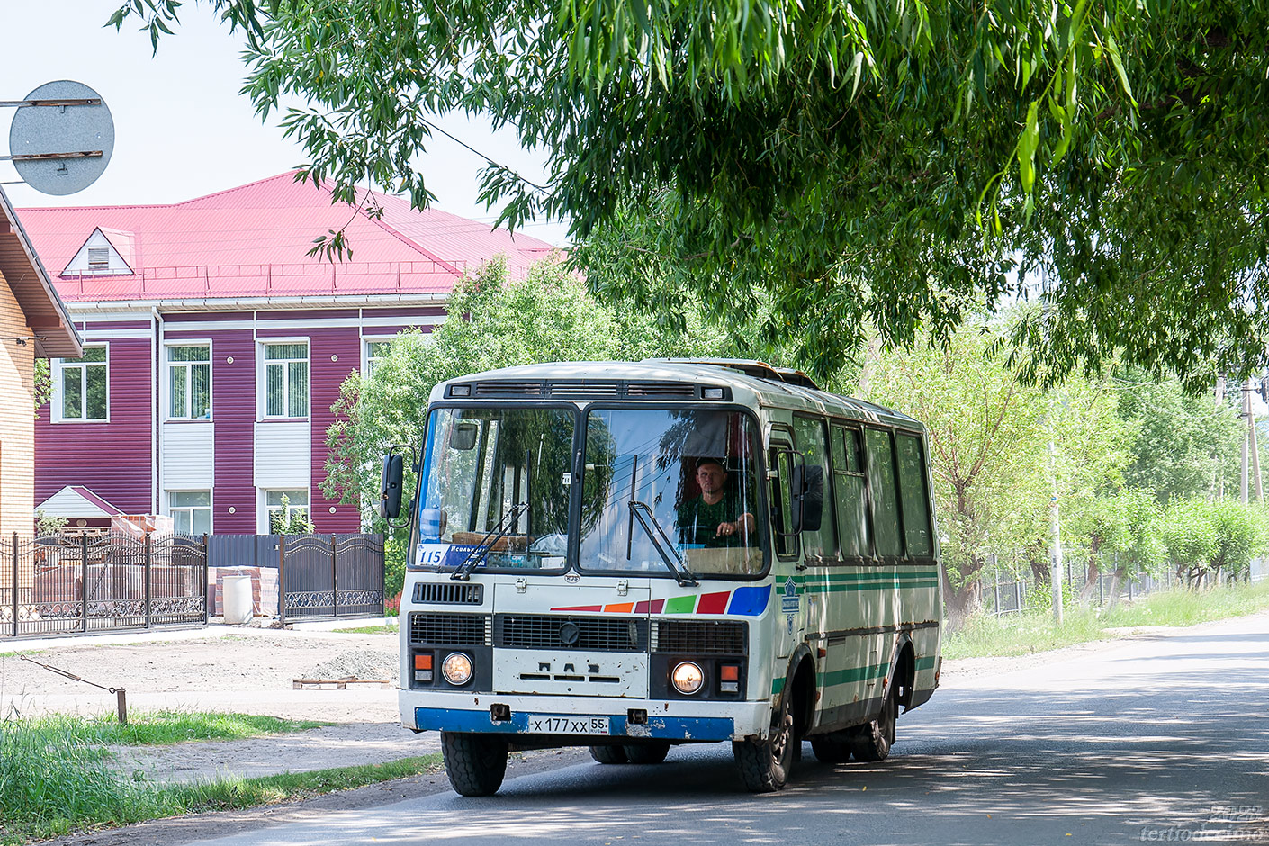
<svg viewBox="0 0 1269 846"><path fill-rule="evenodd" d="M152 715L138 715L137 722L141 723L147 717ZM183 724L197 722L199 717L208 718L201 736L246 736L216 734L217 731L225 731L221 714L180 717L184 718ZM246 727L261 719L241 714L231 717L242 718L237 723ZM0 843L10 846L71 831L124 826L176 814L296 802L440 770L440 756L428 755L382 765L293 772L264 779L162 785L145 776L127 778L113 770L104 747L127 741L105 731L104 726L98 726L99 722L104 724L107 720L56 718L0 722ZM165 724L164 720L159 722ZM89 726L80 726L81 723ZM217 724L222 728L214 728ZM297 728L302 724L292 722L289 726ZM145 736L170 737L171 732L164 728L140 737Z"/></svg>

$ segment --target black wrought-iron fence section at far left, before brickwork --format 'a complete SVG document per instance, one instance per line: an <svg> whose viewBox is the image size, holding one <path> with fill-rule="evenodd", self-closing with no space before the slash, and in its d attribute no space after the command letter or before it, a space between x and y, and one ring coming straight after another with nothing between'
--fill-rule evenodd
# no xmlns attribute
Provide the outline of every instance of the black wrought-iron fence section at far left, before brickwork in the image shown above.
<svg viewBox="0 0 1269 846"><path fill-rule="evenodd" d="M14 534L0 543L0 637L206 623L203 537Z"/></svg>

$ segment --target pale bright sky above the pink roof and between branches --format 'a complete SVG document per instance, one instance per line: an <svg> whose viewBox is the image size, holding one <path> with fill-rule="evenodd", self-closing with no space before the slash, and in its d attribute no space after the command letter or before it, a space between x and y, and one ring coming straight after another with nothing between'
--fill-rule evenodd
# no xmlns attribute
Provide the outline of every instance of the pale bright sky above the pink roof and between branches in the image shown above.
<svg viewBox="0 0 1269 846"><path fill-rule="evenodd" d="M150 37L127 23L122 32L102 24L122 0L0 0L4 52L0 100L20 100L53 80L75 80L105 100L114 119L114 153L93 185L66 197L10 184L18 174L0 162L0 183L18 207L179 203L275 176L305 161L303 151L282 137L278 115L268 124L239 94L246 66L241 39L217 27L206 4L187 3L181 27L151 57ZM0 153L9 152L15 109L0 109ZM524 151L510 132L450 115L439 126L463 142L516 169L533 181L543 178L542 153ZM492 223L496 209L477 203L483 161L439 134L419 162L435 207ZM524 232L565 245L567 227L538 222Z"/></svg>

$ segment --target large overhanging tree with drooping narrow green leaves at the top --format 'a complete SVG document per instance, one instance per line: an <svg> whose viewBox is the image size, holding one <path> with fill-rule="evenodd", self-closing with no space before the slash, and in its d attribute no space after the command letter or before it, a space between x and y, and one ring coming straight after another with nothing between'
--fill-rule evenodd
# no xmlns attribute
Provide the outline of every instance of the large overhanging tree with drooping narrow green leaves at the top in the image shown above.
<svg viewBox="0 0 1269 846"><path fill-rule="evenodd" d="M207 5L247 37L261 115L310 104L282 123L338 197L369 179L423 207L434 118L485 113L549 156L542 185L490 162L503 222L632 235L711 312L764 299L820 375L869 322L947 337L1006 294L1042 304L1011 335L1029 375L1265 360L1264 4ZM178 6L112 23L157 48Z"/></svg>

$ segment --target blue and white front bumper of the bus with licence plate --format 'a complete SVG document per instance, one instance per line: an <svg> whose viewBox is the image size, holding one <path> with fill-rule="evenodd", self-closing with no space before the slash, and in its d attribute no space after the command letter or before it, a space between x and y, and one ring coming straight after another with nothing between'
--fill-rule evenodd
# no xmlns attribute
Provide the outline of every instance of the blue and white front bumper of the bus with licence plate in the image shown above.
<svg viewBox="0 0 1269 846"><path fill-rule="evenodd" d="M684 703L629 699L557 699L548 696L456 696L453 706L438 706L438 696L429 696L428 706L410 703L407 691L401 696L401 718L407 728L420 732L472 732L496 734L574 734L579 745L584 738L628 737L678 742L714 742L744 739L765 734L770 719L766 701ZM510 715L494 719L489 705L506 705ZM645 722L633 722L632 710L646 712ZM598 720L598 722L596 722ZM608 731L595 731L595 726Z"/></svg>

